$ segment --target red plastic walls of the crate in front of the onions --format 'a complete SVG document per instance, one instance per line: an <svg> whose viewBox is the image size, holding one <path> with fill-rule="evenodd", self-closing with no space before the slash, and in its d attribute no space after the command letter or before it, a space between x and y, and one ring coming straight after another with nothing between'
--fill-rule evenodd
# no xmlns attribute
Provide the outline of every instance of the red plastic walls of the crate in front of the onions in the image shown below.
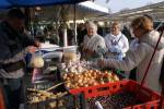
<svg viewBox="0 0 164 109"><path fill-rule="evenodd" d="M71 89L71 94L84 93L85 98L93 98L97 96L114 95L120 92L136 92L139 88L139 84L134 81L124 80L115 83L106 83L103 85L82 87L77 89ZM138 93L138 98L144 104L134 105L132 109L159 109L160 95L147 87L142 87ZM125 109L131 109L131 107L126 107Z"/></svg>

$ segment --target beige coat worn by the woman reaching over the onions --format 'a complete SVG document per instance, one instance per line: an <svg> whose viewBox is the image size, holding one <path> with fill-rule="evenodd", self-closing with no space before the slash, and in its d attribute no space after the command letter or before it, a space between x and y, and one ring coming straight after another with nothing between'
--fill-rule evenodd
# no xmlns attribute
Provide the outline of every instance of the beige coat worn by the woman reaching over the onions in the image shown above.
<svg viewBox="0 0 164 109"><path fill-rule="evenodd" d="M125 60L118 61L114 59L105 60L105 66L115 68L122 71L130 71L134 66L137 66L137 81L141 82L152 53L154 51L154 47L157 43L160 35L157 32L152 31L149 34L142 36L139 39L139 44L136 49L131 49L127 52ZM147 78L144 81L144 85L150 87L153 90L161 92L161 86L159 83L159 77L161 73L162 59L164 57L164 37L162 37L156 53L153 58L151 66L148 71Z"/></svg>

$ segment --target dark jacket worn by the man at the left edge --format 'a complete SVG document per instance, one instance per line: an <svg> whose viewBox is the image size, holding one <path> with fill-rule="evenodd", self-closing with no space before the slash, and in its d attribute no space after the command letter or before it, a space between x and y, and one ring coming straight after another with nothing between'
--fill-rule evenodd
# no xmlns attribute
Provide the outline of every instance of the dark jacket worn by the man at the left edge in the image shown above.
<svg viewBox="0 0 164 109"><path fill-rule="evenodd" d="M31 45L35 45L32 38L15 32L7 22L0 23L0 64L23 60Z"/></svg>

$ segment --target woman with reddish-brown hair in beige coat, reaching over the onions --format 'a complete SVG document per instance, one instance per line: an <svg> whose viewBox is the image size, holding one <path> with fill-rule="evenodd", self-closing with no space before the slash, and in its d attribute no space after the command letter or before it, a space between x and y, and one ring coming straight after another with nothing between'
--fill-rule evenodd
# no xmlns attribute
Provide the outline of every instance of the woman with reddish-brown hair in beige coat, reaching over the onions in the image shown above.
<svg viewBox="0 0 164 109"><path fill-rule="evenodd" d="M155 45L159 40L159 32L153 29L153 23L147 16L139 16L131 23L134 36L139 39L136 49L129 49L124 60L99 59L97 64L102 68L115 68L122 71L130 71L137 66L137 81L140 83L143 78L148 64L151 60ZM161 93L159 82L162 59L164 57L164 37L162 37L155 56L151 62L144 85L153 90Z"/></svg>

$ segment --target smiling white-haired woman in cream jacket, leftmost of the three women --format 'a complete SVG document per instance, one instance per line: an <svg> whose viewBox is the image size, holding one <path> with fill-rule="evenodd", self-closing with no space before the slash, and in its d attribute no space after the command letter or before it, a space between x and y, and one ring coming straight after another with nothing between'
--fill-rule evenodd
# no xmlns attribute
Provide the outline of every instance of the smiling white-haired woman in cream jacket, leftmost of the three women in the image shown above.
<svg viewBox="0 0 164 109"><path fill-rule="evenodd" d="M86 26L87 35L84 36L82 57L85 59L95 58L99 55L101 49L105 49L104 38L97 34L97 26L93 22L89 22Z"/></svg>

